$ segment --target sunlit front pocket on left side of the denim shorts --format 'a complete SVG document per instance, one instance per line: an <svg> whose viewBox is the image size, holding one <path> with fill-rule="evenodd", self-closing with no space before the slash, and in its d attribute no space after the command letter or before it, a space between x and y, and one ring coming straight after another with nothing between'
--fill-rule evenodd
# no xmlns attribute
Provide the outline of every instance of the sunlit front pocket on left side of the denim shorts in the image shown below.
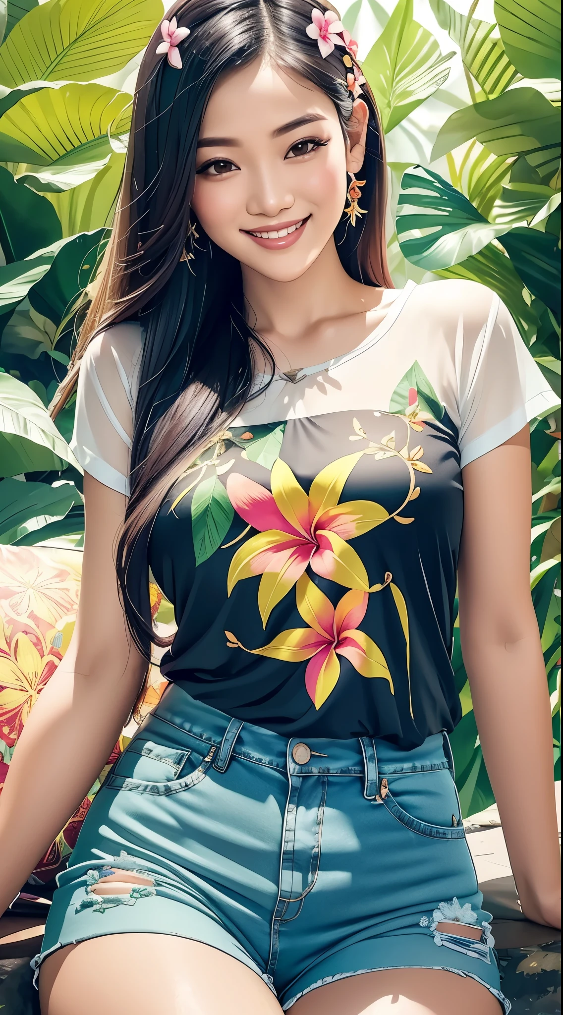
<svg viewBox="0 0 563 1015"><path fill-rule="evenodd" d="M210 747L204 757L203 750L207 746L202 744L202 752L199 753L136 737L120 756L103 786L110 790L148 793L158 797L189 790L205 779L213 760L216 747Z"/></svg>

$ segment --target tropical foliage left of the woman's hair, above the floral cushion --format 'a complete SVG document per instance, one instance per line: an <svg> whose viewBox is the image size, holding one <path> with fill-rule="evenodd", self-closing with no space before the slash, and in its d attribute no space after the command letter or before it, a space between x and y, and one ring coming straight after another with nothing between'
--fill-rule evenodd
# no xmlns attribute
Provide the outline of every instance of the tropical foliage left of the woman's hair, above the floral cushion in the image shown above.
<svg viewBox="0 0 563 1015"><path fill-rule="evenodd" d="M83 531L47 411L110 235L132 87L161 0L0 0L0 543ZM116 40L119 39L119 45Z"/></svg>

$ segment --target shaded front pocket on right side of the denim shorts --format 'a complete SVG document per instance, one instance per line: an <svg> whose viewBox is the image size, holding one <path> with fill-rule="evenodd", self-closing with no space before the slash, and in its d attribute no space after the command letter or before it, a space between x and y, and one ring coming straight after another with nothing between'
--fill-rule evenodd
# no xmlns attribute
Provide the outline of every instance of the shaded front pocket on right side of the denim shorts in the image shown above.
<svg viewBox="0 0 563 1015"><path fill-rule="evenodd" d="M401 824L430 838L465 838L455 785L448 768L389 775L383 805Z"/></svg>

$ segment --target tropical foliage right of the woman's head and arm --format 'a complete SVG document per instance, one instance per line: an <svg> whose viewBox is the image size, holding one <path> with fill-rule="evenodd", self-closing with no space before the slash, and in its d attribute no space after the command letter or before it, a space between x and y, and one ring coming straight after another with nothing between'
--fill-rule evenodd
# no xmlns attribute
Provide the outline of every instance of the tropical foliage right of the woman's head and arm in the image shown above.
<svg viewBox="0 0 563 1015"><path fill-rule="evenodd" d="M385 127L395 224L390 262L398 284L440 276L494 289L560 394L561 3L495 0L492 23L476 16L478 2L462 14L445 0L428 0L424 25L413 18L413 0L399 0L395 8L357 0L344 15L355 38L367 25L377 36L363 72ZM534 420L531 430L531 586L560 777L560 410ZM493 795L459 625L452 665L464 718L451 742L469 815Z"/></svg>

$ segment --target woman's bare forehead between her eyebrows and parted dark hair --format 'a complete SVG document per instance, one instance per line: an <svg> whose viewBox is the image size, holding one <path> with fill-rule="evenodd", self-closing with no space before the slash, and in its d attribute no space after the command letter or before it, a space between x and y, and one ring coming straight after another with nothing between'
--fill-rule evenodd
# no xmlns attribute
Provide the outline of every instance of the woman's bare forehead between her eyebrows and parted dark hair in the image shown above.
<svg viewBox="0 0 563 1015"><path fill-rule="evenodd" d="M207 105L202 136L270 134L308 113L338 122L333 101L321 88L261 58L219 78Z"/></svg>

